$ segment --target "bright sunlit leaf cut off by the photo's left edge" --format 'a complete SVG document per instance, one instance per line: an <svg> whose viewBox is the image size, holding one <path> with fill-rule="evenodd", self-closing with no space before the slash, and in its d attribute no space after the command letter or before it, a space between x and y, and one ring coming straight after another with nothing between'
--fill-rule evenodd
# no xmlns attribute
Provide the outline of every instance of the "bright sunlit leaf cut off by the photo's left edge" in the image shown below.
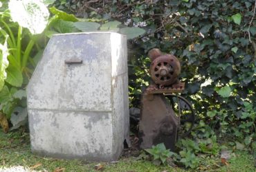
<svg viewBox="0 0 256 172"><path fill-rule="evenodd" d="M3 88L4 80L6 80L6 68L9 65L9 61L7 59L8 56L8 47L7 47L7 37L6 41L3 45L0 43L0 91Z"/></svg>

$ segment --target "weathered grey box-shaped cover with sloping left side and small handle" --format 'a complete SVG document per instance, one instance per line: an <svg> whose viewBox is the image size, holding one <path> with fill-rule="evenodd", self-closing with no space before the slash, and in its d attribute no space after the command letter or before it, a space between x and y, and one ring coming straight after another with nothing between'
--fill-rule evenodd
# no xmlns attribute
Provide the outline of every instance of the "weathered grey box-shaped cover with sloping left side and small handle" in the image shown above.
<svg viewBox="0 0 256 172"><path fill-rule="evenodd" d="M32 151L54 158L117 160L124 140L129 142L127 77L126 36L53 36L27 87Z"/></svg>

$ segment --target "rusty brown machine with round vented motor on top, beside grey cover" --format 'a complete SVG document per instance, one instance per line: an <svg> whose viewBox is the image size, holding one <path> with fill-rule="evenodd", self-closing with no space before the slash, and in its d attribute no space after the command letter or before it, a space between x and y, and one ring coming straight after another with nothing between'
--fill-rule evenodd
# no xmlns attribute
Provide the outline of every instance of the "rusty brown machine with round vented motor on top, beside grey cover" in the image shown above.
<svg viewBox="0 0 256 172"><path fill-rule="evenodd" d="M178 79L181 73L178 58L156 48L149 51L149 58L152 82L141 97L140 148L163 142L167 149L174 151L177 137L190 133L194 111L188 100L178 96L185 87Z"/></svg>

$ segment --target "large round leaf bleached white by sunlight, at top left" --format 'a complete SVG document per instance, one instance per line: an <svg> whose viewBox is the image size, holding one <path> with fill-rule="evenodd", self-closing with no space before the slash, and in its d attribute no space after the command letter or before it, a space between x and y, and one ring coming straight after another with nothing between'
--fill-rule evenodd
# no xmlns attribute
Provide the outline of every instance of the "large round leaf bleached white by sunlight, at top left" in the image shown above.
<svg viewBox="0 0 256 172"><path fill-rule="evenodd" d="M44 31L50 15L42 1L10 0L9 10L12 21L28 28L32 34L40 34Z"/></svg>

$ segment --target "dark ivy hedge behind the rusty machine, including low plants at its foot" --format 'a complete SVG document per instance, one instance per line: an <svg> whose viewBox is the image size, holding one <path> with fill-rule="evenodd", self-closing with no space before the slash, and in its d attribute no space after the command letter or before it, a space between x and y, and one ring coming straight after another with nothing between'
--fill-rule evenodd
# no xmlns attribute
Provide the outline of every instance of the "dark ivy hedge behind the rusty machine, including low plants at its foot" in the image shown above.
<svg viewBox="0 0 256 172"><path fill-rule="evenodd" d="M88 7L86 2L59 6L57 1L55 4L66 11L84 10L83 15L91 19L108 21L113 17L120 22L116 25L120 33L132 31L123 25L145 30L128 44L131 106L140 106L140 94L149 85L147 52L150 49L158 47L181 61L181 80L185 82L183 94L190 96L188 99L196 109L198 120L192 139L179 141L177 162L196 168L201 153L209 158L219 153L218 140L223 138L230 139L234 149L241 148L236 147L239 144L243 149L252 149L256 63L248 31L251 35L256 34L255 19L250 29L248 25L253 17L254 0L122 0L104 1L104 6L99 2L102 1L90 3L90 10L84 8ZM81 14L77 12L76 15ZM255 37L251 41L255 42Z"/></svg>

